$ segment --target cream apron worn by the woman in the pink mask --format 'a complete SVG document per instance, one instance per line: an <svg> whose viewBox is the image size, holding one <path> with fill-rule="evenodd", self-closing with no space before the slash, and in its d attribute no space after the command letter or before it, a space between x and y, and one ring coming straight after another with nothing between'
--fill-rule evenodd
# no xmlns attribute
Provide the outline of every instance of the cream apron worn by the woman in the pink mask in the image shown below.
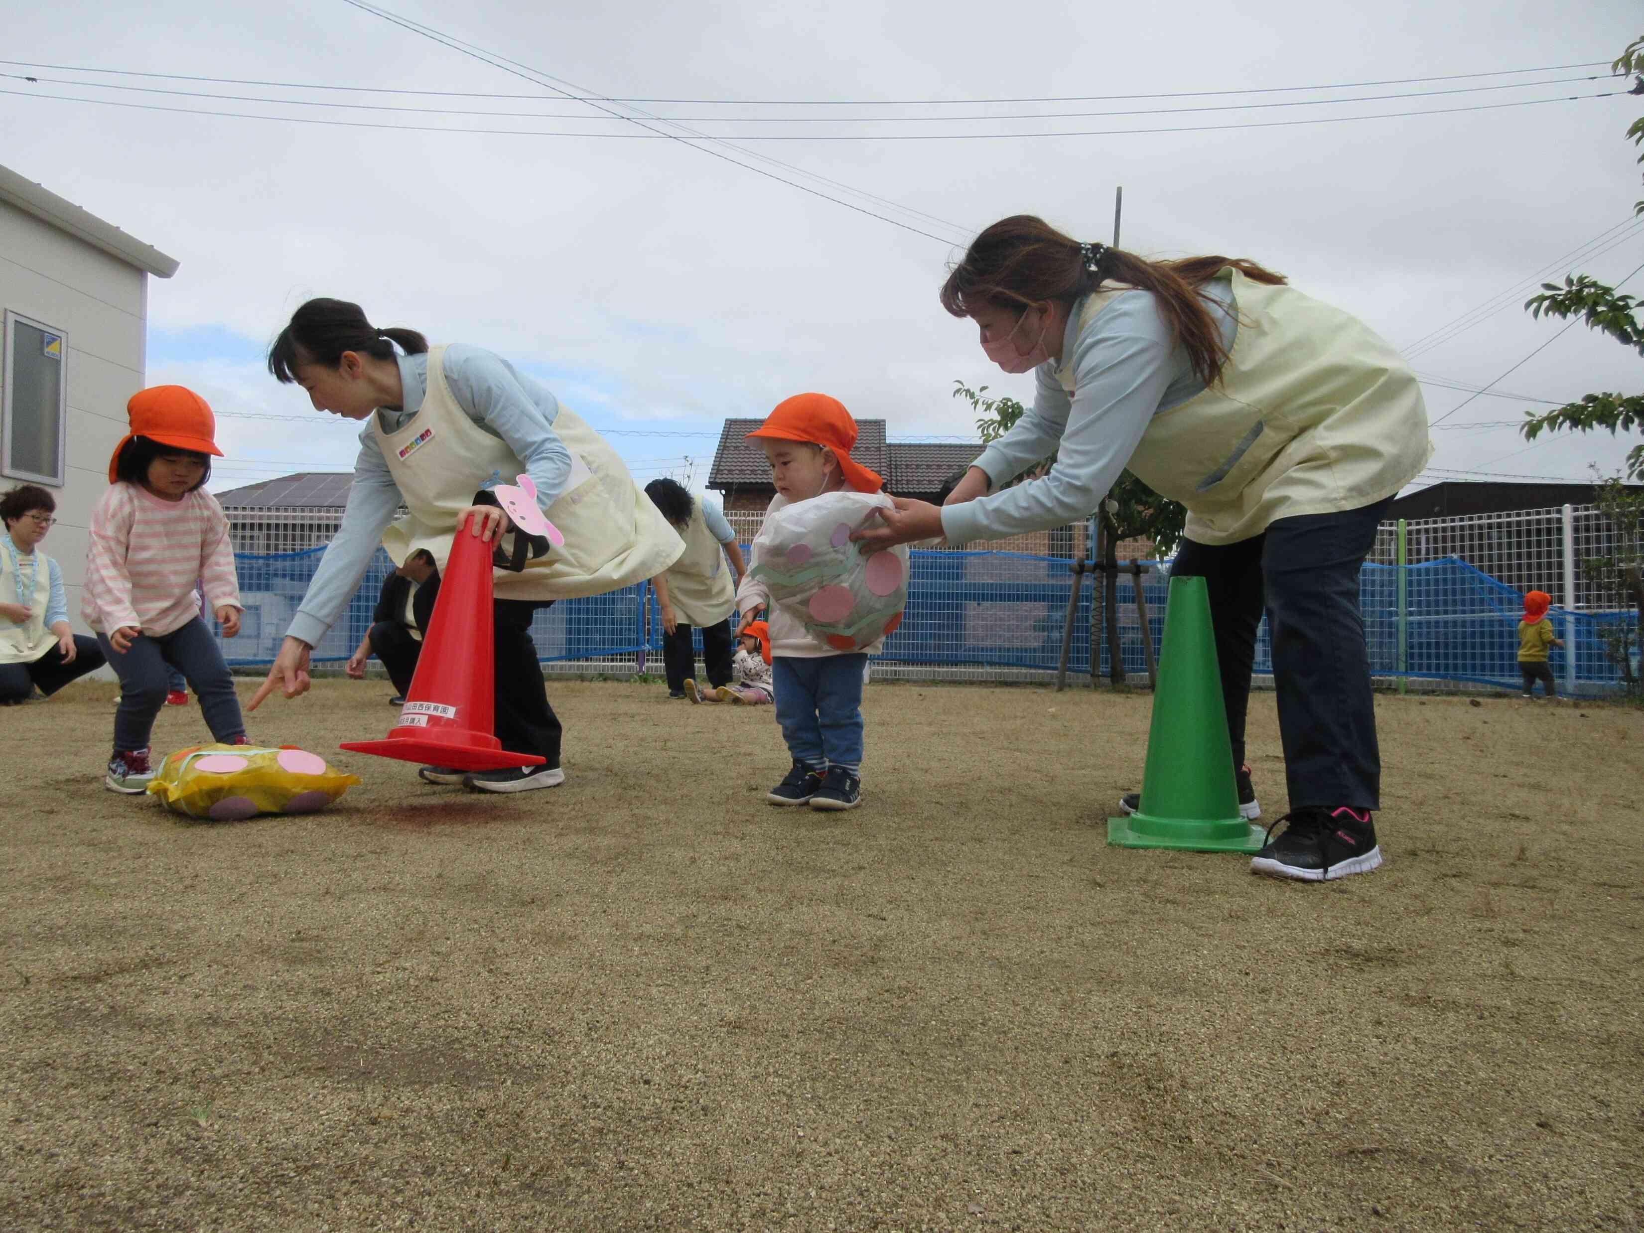
<svg viewBox="0 0 1644 1233"><path fill-rule="evenodd" d="M1392 496L1434 454L1415 375L1342 309L1235 268L1238 335L1221 380L1152 418L1126 464L1187 506L1187 538L1233 544L1277 518ZM1123 291L1090 296L1083 334ZM1074 391L1067 363L1057 380Z"/></svg>

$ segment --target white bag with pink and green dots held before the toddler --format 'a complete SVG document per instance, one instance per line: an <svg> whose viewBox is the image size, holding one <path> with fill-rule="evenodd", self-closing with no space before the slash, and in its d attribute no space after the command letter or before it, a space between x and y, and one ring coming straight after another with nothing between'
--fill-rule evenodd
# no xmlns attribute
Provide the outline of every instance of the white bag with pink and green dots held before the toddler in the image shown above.
<svg viewBox="0 0 1644 1233"><path fill-rule="evenodd" d="M853 531L891 508L880 493L830 492L776 510L753 539L753 567L771 602L835 651L891 633L907 607L907 547L871 551Z"/></svg>

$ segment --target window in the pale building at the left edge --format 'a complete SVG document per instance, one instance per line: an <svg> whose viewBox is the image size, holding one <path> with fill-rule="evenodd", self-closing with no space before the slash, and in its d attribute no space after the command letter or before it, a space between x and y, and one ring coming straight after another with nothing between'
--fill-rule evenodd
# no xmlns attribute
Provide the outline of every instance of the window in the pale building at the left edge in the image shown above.
<svg viewBox="0 0 1644 1233"><path fill-rule="evenodd" d="M0 368L0 470L15 480L62 487L67 381L62 330L5 314Z"/></svg>

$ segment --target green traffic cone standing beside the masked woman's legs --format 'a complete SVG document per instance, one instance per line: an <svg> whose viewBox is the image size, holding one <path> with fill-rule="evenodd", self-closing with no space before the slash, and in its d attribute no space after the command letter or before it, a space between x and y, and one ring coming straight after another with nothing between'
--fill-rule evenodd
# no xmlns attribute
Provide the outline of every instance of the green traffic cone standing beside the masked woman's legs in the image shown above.
<svg viewBox="0 0 1644 1233"><path fill-rule="evenodd" d="M1108 819L1108 843L1259 852L1264 834L1238 812L1210 590L1203 579L1171 579L1141 807Z"/></svg>

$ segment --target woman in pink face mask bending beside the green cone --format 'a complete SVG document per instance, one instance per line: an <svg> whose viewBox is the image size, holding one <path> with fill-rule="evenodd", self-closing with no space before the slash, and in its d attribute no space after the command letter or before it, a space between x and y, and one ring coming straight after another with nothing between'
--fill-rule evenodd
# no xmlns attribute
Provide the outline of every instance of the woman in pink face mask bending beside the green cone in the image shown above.
<svg viewBox="0 0 1644 1233"><path fill-rule="evenodd" d="M1187 506L1171 572L1207 580L1236 768L1268 613L1291 812L1253 871L1325 881L1374 870L1381 761L1358 575L1388 503L1432 455L1406 363L1253 261L1146 261L1031 215L981 232L940 298L977 322L1004 372L1036 370L1032 409L942 508L893 498L886 528L858 538L968 543L1062 526L1129 469ZM1004 488L1052 452L1047 475Z"/></svg>

